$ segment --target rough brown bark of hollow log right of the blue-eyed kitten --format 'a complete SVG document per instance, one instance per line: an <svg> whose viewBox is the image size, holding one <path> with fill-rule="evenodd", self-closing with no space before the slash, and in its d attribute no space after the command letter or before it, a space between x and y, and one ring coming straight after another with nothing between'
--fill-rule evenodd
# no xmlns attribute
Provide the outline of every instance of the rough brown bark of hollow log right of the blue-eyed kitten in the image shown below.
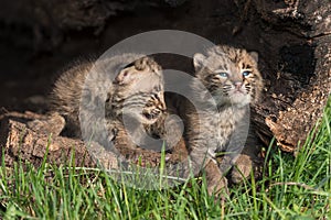
<svg viewBox="0 0 331 220"><path fill-rule="evenodd" d="M255 109L265 143L275 136L281 150L296 152L321 118L331 91L331 4L328 0L256 0L256 9L263 20L299 35L312 50L311 64L302 57L305 45L289 46L280 54L282 68L274 78L275 86L266 94L267 101ZM300 63L295 61L298 57Z"/></svg>

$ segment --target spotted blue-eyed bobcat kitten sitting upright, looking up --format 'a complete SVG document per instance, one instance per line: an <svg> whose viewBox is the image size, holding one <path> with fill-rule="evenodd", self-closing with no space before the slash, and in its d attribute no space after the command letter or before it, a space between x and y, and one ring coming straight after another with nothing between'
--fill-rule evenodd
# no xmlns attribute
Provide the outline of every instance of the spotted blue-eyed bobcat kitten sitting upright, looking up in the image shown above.
<svg viewBox="0 0 331 220"><path fill-rule="evenodd" d="M210 163L217 164L217 152L229 153L224 156L220 168L213 169L214 174L207 174L213 178L212 186L209 186L212 190L211 187L217 188L217 182L222 182L233 163L245 169L245 176L249 175L255 146L245 144L248 111L249 105L258 101L263 79L257 69L257 54L242 48L214 46L206 55L195 54L193 64L196 79L192 81L191 89L196 109L193 106L185 109L190 170L197 175L206 165L211 167ZM188 165L183 168L182 175L186 176ZM241 172L234 169L232 180L241 180Z"/></svg>

